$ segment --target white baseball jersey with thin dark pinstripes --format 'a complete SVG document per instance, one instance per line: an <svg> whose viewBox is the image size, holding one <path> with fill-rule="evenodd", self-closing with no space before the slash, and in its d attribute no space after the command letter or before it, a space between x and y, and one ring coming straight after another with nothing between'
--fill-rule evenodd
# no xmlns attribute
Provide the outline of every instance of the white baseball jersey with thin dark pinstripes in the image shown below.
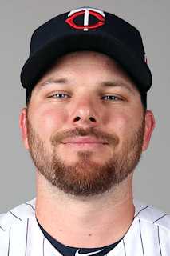
<svg viewBox="0 0 170 256"><path fill-rule="evenodd" d="M0 215L1 256L61 256L38 226L35 202ZM132 226L107 256L169 256L170 215L136 200L134 205Z"/></svg>

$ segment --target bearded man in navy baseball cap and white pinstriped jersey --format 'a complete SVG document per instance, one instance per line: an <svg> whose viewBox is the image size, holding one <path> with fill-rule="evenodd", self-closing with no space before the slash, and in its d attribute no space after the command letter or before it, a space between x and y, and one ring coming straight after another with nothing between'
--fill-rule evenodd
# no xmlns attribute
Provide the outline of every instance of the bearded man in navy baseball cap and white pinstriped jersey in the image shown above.
<svg viewBox="0 0 170 256"><path fill-rule="evenodd" d="M1 215L1 255L168 256L169 215L132 199L155 126L139 32L93 8L61 14L35 30L21 78L37 199Z"/></svg>

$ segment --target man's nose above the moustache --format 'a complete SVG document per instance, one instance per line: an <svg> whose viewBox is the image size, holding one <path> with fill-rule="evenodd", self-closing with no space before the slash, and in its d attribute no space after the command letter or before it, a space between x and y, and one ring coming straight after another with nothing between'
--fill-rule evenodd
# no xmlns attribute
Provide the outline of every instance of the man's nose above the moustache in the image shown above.
<svg viewBox="0 0 170 256"><path fill-rule="evenodd" d="M89 97L79 98L74 104L72 122L74 124L95 124L99 121L97 103Z"/></svg>

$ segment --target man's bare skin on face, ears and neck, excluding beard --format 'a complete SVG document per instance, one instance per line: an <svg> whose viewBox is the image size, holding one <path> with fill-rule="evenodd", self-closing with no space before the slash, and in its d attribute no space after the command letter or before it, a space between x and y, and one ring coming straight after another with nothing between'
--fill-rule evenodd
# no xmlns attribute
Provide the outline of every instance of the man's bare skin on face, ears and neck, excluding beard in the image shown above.
<svg viewBox="0 0 170 256"><path fill-rule="evenodd" d="M108 86L111 83L112 86ZM56 98L56 94L65 94L65 98ZM113 99L108 100L107 96ZM141 126L143 118L144 151L155 126L152 112L144 113L140 93L125 70L113 59L96 52L75 52L59 58L34 86L28 116L49 152L52 151L50 137L55 131L77 126L92 126L101 132L116 134L119 152L123 142ZM24 108L20 126L23 144L29 150L26 125ZM61 144L58 152L69 164L78 161L80 150L90 151L93 162L107 161L111 153L109 146L97 144L100 143ZM75 247L107 246L121 239L131 226L132 173L113 189L88 198L65 194L38 171L37 177L36 216L57 241Z"/></svg>

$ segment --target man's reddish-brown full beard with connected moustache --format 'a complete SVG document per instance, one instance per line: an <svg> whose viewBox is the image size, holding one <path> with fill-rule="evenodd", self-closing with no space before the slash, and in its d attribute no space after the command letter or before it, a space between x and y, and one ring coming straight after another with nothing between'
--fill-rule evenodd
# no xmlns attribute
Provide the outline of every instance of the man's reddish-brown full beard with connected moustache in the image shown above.
<svg viewBox="0 0 170 256"><path fill-rule="evenodd" d="M101 133L93 127L88 129L77 127L73 130L53 134L50 137L52 150L47 149L45 141L36 133L28 118L27 135L30 155L38 172L50 184L66 194L88 197L113 189L135 169L142 152L144 119L138 130L133 131L131 137L126 137L119 150L117 150L119 145L117 135ZM67 138L77 136L92 136L102 139L110 146L109 158L103 159L103 164L101 164L92 161L93 152L79 151L77 152L77 162L66 163L58 152L58 145Z"/></svg>

